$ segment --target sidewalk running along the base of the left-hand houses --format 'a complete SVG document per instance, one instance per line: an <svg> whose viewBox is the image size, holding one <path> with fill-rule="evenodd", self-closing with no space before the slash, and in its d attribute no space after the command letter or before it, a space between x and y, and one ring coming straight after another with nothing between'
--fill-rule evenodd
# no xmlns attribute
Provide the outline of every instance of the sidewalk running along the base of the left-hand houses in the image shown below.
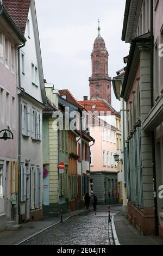
<svg viewBox="0 0 163 256"><path fill-rule="evenodd" d="M90 210L77 210L72 211L68 214L63 215L63 221L68 220L76 215L87 214L87 212L92 211L92 207ZM16 231L3 231L0 232L0 245L16 245L18 242L26 239L29 236L34 235L35 233L40 232L43 229L51 227L51 225L57 225L60 223L60 217L44 217L43 221L38 222L27 222L23 224L23 228Z"/></svg>

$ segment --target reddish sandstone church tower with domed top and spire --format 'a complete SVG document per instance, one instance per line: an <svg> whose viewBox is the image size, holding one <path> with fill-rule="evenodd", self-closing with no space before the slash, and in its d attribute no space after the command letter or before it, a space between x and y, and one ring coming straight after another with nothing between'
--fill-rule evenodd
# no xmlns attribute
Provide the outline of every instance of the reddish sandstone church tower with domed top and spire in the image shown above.
<svg viewBox="0 0 163 256"><path fill-rule="evenodd" d="M101 28L98 26L98 36L91 53L92 76L89 78L90 99L104 99L111 105L111 77L108 75L109 53L105 47L100 30Z"/></svg>

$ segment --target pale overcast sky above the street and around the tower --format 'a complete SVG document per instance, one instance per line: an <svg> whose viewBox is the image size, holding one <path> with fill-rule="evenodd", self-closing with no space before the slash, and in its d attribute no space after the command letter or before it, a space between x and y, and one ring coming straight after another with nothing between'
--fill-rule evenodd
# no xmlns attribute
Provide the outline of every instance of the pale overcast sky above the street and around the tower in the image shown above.
<svg viewBox="0 0 163 256"><path fill-rule="evenodd" d="M121 41L125 0L35 0L43 72L55 89L69 89L78 100L89 96L91 52L98 35L109 52L109 76L123 68L129 45ZM112 90L112 106L120 103Z"/></svg>

